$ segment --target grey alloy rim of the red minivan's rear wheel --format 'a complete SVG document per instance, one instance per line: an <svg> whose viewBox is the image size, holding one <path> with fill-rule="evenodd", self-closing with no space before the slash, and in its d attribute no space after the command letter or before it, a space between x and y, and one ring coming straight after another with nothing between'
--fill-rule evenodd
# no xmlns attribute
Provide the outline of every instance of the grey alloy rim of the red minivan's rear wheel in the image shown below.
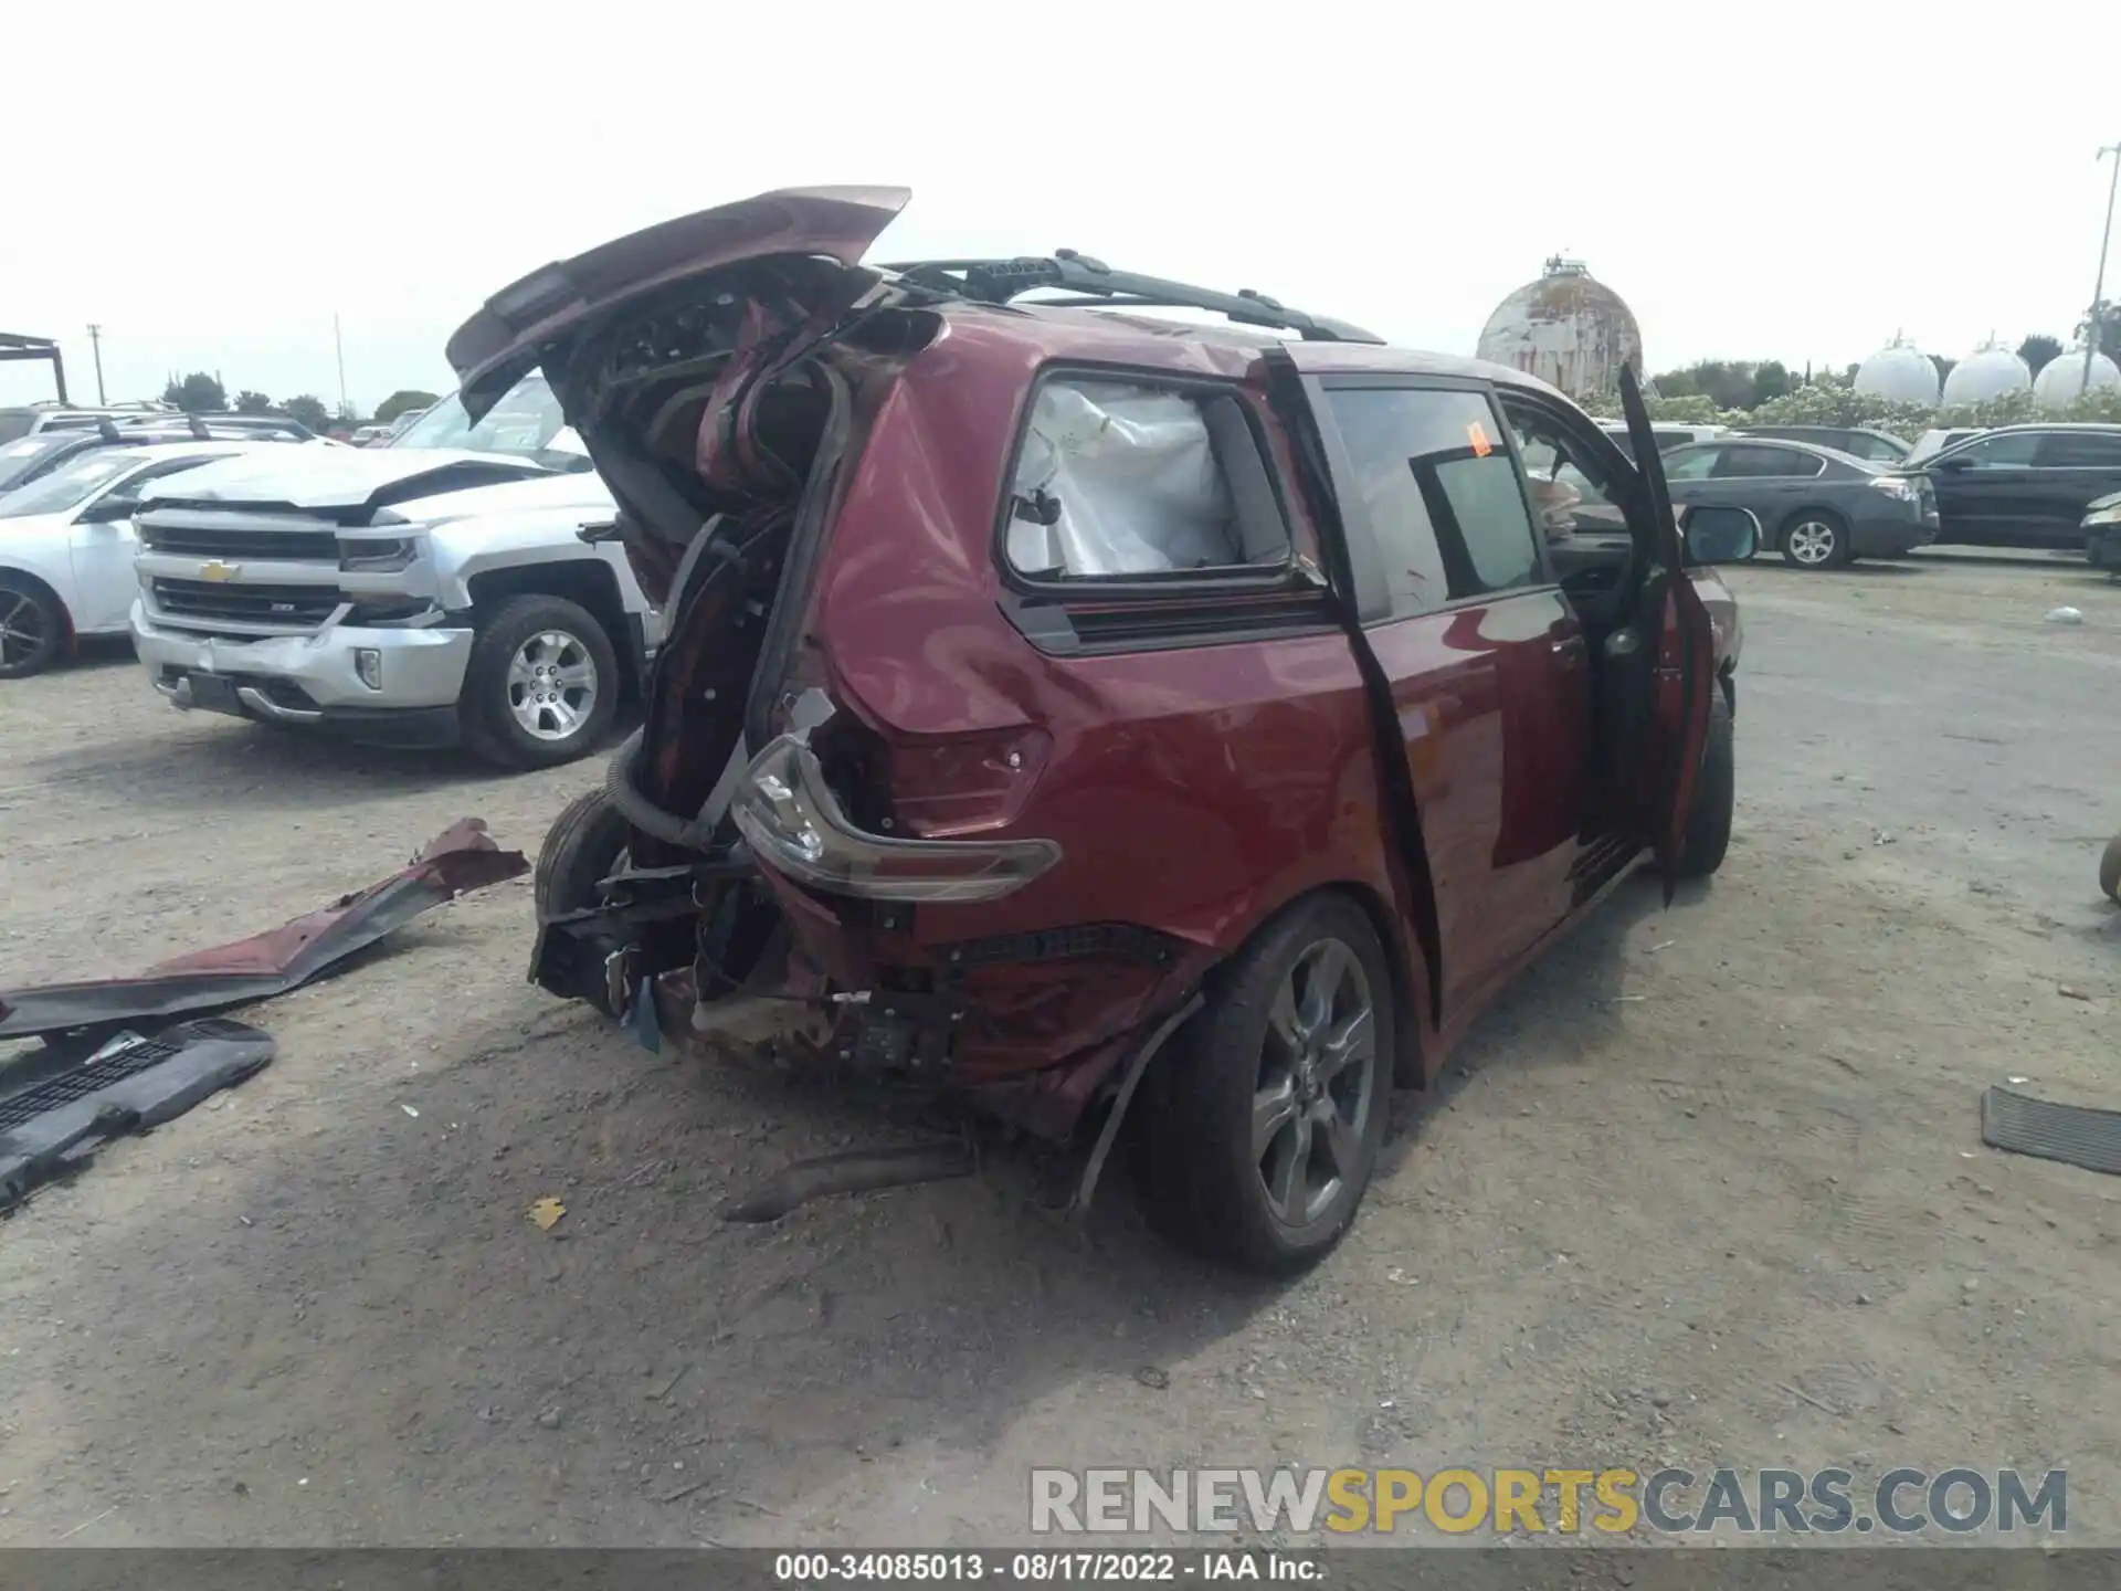
<svg viewBox="0 0 2121 1591"><path fill-rule="evenodd" d="M1362 1184L1374 1095L1377 1010L1362 961L1319 940L1281 980L1260 1044L1251 1154L1266 1203L1311 1226Z"/></svg>

